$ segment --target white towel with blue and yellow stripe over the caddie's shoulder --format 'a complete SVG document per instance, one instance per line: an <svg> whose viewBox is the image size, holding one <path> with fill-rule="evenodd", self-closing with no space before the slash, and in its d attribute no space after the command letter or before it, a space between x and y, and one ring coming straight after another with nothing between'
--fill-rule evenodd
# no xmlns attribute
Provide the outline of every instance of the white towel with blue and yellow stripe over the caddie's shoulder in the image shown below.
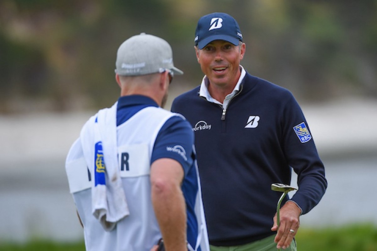
<svg viewBox="0 0 377 251"><path fill-rule="evenodd" d="M116 108L117 102L100 110L80 134L87 165L94 173L92 213L106 231L130 214L118 167Z"/></svg>

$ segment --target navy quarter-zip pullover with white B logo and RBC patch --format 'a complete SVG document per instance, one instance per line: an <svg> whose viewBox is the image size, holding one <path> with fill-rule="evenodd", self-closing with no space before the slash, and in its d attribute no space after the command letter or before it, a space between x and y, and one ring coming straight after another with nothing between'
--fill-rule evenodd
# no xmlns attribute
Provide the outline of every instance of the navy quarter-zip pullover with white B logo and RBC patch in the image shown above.
<svg viewBox="0 0 377 251"><path fill-rule="evenodd" d="M291 170L299 190L290 200L302 214L318 204L327 187L325 170L289 90L245 72L226 109L199 90L178 96L172 112L184 115L195 133L211 245L243 245L276 234L271 227L281 193L271 184L291 184Z"/></svg>

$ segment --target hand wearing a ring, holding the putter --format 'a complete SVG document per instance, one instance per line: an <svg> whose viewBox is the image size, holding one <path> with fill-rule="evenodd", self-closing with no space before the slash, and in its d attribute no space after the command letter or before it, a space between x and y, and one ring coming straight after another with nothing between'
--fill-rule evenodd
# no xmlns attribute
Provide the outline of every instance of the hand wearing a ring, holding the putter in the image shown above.
<svg viewBox="0 0 377 251"><path fill-rule="evenodd" d="M300 214L301 209L297 207L294 202L288 201L285 203L280 209L279 230L277 230L277 219L275 214L274 225L271 230L277 230L277 234L275 236L275 243L277 243L276 248L286 249L290 246L293 237L296 235L297 230L300 227Z"/></svg>

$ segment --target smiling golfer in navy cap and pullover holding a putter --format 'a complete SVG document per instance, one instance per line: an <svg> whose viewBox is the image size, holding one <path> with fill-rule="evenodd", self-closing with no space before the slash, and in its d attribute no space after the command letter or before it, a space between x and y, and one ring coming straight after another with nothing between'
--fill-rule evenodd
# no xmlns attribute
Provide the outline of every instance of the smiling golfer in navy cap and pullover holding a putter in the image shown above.
<svg viewBox="0 0 377 251"><path fill-rule="evenodd" d="M308 122L290 91L240 65L246 45L233 17L201 17L194 41L205 76L172 111L195 133L211 251L296 250L299 217L327 187ZM281 194L271 184L291 184L292 170L299 190L282 202L277 231Z"/></svg>

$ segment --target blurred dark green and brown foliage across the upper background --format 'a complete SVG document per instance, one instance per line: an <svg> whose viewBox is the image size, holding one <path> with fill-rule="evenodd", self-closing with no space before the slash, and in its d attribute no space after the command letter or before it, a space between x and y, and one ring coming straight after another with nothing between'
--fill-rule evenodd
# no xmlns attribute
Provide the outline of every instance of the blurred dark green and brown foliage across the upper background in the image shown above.
<svg viewBox="0 0 377 251"><path fill-rule="evenodd" d="M110 106L118 46L140 32L166 39L195 87L196 22L211 12L238 20L245 69L299 101L377 97L376 0L2 0L0 113Z"/></svg>

